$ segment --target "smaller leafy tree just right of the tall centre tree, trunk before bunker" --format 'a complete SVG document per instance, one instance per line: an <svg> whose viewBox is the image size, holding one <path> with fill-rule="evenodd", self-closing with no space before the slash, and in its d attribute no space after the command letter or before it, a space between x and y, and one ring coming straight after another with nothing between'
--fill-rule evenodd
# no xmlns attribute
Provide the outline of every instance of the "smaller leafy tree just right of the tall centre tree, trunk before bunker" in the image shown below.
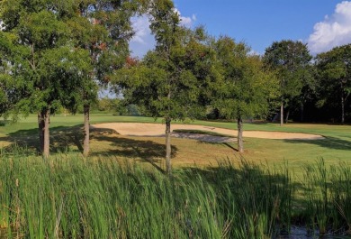
<svg viewBox="0 0 351 239"><path fill-rule="evenodd" d="M220 37L214 48L220 78L212 85L212 105L224 118L237 120L238 152L244 152L243 118L267 114L269 99L276 94L276 78L264 70L260 58L250 55L250 49L242 42Z"/></svg>

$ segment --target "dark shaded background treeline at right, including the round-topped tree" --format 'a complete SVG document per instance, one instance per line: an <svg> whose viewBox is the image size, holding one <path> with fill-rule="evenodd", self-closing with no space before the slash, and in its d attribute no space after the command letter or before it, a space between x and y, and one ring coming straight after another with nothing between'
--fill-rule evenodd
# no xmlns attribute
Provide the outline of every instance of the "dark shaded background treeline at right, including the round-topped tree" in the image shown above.
<svg viewBox="0 0 351 239"><path fill-rule="evenodd" d="M312 57L302 42L279 41L263 60L278 74L285 121L351 122L351 44Z"/></svg>

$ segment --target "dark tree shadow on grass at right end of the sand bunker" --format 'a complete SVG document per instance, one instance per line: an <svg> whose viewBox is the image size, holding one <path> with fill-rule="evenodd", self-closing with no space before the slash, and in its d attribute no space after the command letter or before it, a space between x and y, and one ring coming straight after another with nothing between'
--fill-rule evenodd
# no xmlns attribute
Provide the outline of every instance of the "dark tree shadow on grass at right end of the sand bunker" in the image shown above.
<svg viewBox="0 0 351 239"><path fill-rule="evenodd" d="M351 141L342 140L336 137L325 137L321 140L284 140L289 143L310 143L313 145L320 146L322 148L333 149L333 150L350 150Z"/></svg>

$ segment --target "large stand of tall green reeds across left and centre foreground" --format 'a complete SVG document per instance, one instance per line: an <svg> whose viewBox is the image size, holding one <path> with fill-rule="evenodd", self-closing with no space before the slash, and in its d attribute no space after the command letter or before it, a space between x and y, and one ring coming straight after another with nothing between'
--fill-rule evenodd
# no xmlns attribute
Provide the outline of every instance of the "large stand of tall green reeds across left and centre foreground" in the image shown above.
<svg viewBox="0 0 351 239"><path fill-rule="evenodd" d="M271 238L290 222L287 175L245 161L173 178L65 155L3 155L0 169L9 238Z"/></svg>

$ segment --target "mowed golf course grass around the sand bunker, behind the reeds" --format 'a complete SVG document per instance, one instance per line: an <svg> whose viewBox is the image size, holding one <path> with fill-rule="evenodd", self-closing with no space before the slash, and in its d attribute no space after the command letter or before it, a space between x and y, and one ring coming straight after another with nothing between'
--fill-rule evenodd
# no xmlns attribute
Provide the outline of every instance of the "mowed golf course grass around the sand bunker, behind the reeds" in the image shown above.
<svg viewBox="0 0 351 239"><path fill-rule="evenodd" d="M79 133L83 115L54 115L50 118L51 151L79 152L82 135ZM107 114L91 115L91 124L99 123L162 123L153 118L137 116L114 116ZM179 124L179 123L176 123ZM187 124L215 126L236 129L235 123L193 121ZM331 124L244 124L245 131L275 131L292 133L320 134L324 140L272 140L244 139L245 153L239 154L235 142L201 142L191 139L172 139L173 164L175 167L210 166L217 161L242 156L247 161L268 163L270 166L282 166L286 161L289 168L300 170L306 164L324 158L327 164L351 161L351 126ZM29 149L37 146L37 118L30 115L17 124L1 124L0 146L6 147L14 142L27 145ZM234 135L235 136L235 135ZM79 142L80 141L80 142ZM92 156L108 155L117 159L143 161L155 166L164 166L165 139L163 137L126 136L112 130L96 129L92 131Z"/></svg>

